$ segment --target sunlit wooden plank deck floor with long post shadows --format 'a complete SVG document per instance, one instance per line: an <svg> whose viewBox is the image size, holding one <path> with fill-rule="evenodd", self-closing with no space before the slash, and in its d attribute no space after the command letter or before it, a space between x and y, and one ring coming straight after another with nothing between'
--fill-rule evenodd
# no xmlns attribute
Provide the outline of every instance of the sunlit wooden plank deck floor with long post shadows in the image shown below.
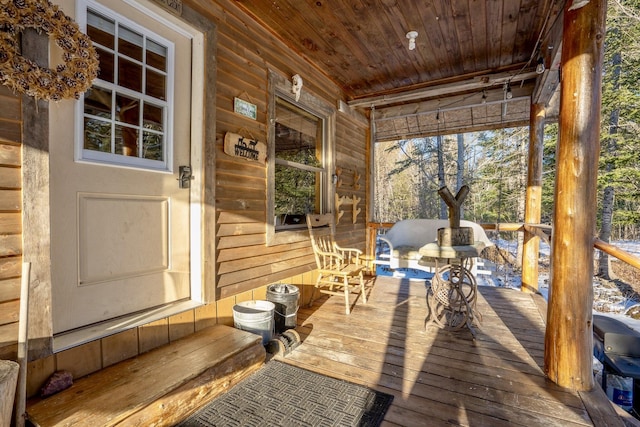
<svg viewBox="0 0 640 427"><path fill-rule="evenodd" d="M543 374L542 297L480 287L482 324L425 331L423 281L372 279L366 305L340 297L298 312L302 344L279 358L393 394L385 425L624 425L604 393L576 393Z"/></svg>

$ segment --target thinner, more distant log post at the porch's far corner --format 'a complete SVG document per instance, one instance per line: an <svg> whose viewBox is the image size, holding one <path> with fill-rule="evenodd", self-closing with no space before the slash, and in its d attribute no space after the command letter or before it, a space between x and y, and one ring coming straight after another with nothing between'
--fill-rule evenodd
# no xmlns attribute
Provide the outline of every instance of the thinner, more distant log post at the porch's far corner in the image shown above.
<svg viewBox="0 0 640 427"><path fill-rule="evenodd" d="M525 196L524 222L540 223L542 212L542 148L544 136L544 106L531 105L529 126L529 162L527 167L527 194ZM538 257L540 237L524 231L522 248L522 291L538 291Z"/></svg>

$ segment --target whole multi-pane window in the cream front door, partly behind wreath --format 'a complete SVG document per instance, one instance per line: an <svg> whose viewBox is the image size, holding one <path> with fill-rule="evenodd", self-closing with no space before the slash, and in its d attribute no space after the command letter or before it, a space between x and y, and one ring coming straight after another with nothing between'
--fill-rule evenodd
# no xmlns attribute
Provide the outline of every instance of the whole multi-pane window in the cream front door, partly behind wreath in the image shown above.
<svg viewBox="0 0 640 427"><path fill-rule="evenodd" d="M80 158L167 170L173 45L113 12L86 13L100 72L84 95Z"/></svg>

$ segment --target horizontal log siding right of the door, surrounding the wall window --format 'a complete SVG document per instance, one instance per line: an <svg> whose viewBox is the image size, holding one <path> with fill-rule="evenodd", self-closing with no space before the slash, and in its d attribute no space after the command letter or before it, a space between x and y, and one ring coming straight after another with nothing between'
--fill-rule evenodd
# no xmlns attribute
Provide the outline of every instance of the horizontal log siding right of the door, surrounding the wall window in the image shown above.
<svg viewBox="0 0 640 427"><path fill-rule="evenodd" d="M268 283L311 271L315 267L308 241L276 246L266 245L267 168L266 165L224 153L227 132L267 140L269 70L283 76L300 74L304 91L336 105L340 89L319 70L300 57L253 20L234 2L221 0L211 5L205 0L188 3L215 22L216 46L216 179L215 230L206 230L216 242L216 299L229 298ZM257 107L257 119L233 112L234 98ZM349 191L362 198L358 224L351 222L351 207L339 224L338 240L345 246L364 249L365 242L365 144L366 124L338 113L336 120L337 164L357 168L361 188ZM349 178L351 179L351 178ZM214 234L215 233L215 234Z"/></svg>

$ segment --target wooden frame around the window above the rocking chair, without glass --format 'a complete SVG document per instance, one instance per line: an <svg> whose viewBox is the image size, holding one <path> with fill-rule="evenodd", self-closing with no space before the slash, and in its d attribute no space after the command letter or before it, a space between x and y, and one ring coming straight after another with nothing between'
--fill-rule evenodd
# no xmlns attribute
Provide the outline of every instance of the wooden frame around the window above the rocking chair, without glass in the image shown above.
<svg viewBox="0 0 640 427"><path fill-rule="evenodd" d="M296 105L303 110L317 116L323 123L323 159L322 171L320 173L320 212L327 213L333 209L333 182L332 171L335 169L335 120L336 109L329 103L309 93L305 89L302 90L300 99L295 100L291 91L291 81L282 75L269 71L269 105L268 105L268 164L267 164L267 245L279 245L304 241L309 239L309 232L306 227L294 230L279 229L275 226L275 165L276 165L276 149L275 149L275 122L276 122L276 99L281 98L287 102ZM281 162L278 162L281 163ZM298 165L296 165L298 166ZM303 168L308 169L308 168ZM312 168L316 171L316 168Z"/></svg>

